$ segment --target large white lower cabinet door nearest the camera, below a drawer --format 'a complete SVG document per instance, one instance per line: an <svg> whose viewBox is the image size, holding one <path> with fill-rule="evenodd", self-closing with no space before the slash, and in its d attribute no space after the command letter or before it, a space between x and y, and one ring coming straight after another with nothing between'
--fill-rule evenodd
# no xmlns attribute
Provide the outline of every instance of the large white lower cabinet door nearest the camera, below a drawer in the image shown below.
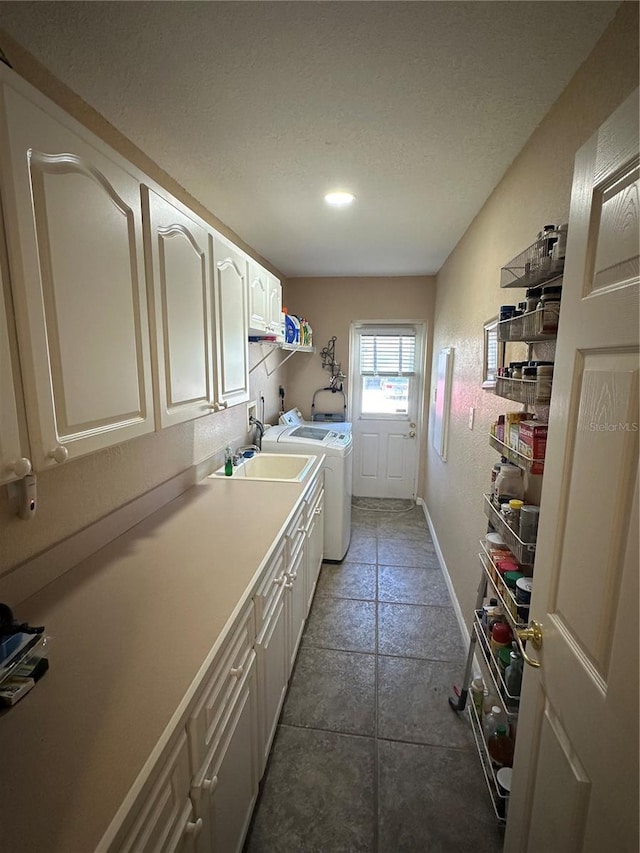
<svg viewBox="0 0 640 853"><path fill-rule="evenodd" d="M256 659L252 658L211 761L191 797L202 831L197 853L240 853L258 796Z"/></svg>

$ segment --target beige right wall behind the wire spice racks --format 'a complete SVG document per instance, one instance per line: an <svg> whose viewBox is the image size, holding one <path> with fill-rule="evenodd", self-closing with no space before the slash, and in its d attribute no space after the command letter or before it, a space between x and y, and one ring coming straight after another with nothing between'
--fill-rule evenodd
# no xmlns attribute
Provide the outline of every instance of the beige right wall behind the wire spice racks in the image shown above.
<svg viewBox="0 0 640 853"><path fill-rule="evenodd" d="M481 493L498 461L486 435L499 413L520 408L480 387L482 325L514 293L523 294L500 289L500 267L545 223L568 220L577 149L637 85L638 6L624 3L438 275L433 357L442 347L455 348L454 385L449 461L428 446L425 497L465 617L475 601L477 543L486 530Z"/></svg>

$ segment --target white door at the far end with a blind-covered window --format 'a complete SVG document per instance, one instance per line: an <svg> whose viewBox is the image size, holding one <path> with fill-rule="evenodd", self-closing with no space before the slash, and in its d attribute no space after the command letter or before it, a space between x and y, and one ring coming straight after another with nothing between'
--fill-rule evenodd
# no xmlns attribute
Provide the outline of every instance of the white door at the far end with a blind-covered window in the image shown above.
<svg viewBox="0 0 640 853"><path fill-rule="evenodd" d="M353 494L414 498L418 473L424 327L351 327Z"/></svg>

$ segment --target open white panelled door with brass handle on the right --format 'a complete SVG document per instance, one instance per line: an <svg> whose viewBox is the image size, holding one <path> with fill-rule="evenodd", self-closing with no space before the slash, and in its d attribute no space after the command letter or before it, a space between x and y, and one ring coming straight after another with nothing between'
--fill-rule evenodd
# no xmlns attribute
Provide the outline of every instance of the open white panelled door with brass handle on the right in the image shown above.
<svg viewBox="0 0 640 853"><path fill-rule="evenodd" d="M638 850L638 92L576 157L505 850Z"/></svg>

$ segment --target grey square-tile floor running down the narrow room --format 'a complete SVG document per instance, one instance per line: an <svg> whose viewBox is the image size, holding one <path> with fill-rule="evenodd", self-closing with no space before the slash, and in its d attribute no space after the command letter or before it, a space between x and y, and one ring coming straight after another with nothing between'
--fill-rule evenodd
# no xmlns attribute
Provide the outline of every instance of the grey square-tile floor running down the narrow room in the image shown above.
<svg viewBox="0 0 640 853"><path fill-rule="evenodd" d="M498 853L466 716L466 648L424 514L354 499L325 563L245 853Z"/></svg>

